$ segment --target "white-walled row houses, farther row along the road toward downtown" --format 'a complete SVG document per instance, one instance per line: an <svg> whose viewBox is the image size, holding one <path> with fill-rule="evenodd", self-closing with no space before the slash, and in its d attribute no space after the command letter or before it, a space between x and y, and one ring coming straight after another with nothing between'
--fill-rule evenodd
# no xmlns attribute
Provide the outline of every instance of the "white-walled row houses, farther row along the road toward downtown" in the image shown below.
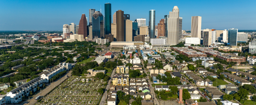
<svg viewBox="0 0 256 105"><path fill-rule="evenodd" d="M40 73L40 77L43 79L43 82L46 82L48 83L49 80L57 75L58 73L62 72L62 71L65 71L65 70L68 70L65 68L65 66L67 68L71 68L71 64L70 63L60 63L59 65L56 65L55 67L51 68L51 69L45 69L43 70L42 73Z"/></svg>

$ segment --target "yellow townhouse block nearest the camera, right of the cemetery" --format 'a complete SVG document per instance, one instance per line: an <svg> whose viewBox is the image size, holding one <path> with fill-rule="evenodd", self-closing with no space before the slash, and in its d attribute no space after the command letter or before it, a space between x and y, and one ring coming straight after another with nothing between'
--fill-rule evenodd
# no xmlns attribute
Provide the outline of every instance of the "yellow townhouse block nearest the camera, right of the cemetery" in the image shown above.
<svg viewBox="0 0 256 105"><path fill-rule="evenodd" d="M112 80L113 85L129 86L129 77L114 77Z"/></svg>

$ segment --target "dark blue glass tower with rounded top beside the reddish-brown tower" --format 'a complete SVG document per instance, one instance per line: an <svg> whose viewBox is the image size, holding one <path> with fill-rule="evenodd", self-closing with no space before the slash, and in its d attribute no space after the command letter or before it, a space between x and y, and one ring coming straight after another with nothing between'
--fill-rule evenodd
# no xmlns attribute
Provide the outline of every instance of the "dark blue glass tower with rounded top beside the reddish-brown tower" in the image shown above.
<svg viewBox="0 0 256 105"><path fill-rule="evenodd" d="M95 11L92 17L92 25L93 25L93 38L94 36L98 36L99 38L103 38L104 35L104 17L100 11Z"/></svg>

